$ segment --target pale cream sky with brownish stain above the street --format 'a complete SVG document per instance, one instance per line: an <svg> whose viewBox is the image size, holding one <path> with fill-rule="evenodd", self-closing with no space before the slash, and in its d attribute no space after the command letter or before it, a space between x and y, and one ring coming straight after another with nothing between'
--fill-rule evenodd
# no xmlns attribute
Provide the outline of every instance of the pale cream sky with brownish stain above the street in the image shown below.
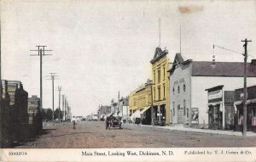
<svg viewBox="0 0 256 162"><path fill-rule="evenodd" d="M161 33L159 32L161 20ZM22 81L29 96L39 92L39 57L30 49L46 45L44 108L52 108L50 72L67 96L73 115L96 113L99 104L128 96L151 78L155 47L187 59L211 61L212 45L256 58L256 1L2 1L2 78ZM243 57L215 48L216 61Z"/></svg>

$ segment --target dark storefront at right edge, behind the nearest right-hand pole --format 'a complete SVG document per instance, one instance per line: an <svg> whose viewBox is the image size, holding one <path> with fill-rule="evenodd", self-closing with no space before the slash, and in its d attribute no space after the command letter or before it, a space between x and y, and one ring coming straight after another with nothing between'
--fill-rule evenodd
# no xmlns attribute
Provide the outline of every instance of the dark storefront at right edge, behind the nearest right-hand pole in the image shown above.
<svg viewBox="0 0 256 162"><path fill-rule="evenodd" d="M235 106L235 131L242 130L243 124L243 88L236 89ZM249 131L256 130L256 86L247 87L247 129Z"/></svg>

